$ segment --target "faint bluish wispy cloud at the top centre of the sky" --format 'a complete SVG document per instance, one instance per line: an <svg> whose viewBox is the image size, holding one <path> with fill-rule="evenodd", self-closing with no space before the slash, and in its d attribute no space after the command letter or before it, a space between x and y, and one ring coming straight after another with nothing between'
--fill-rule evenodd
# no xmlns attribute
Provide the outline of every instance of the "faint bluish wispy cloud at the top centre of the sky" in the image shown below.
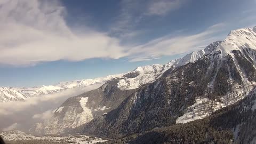
<svg viewBox="0 0 256 144"><path fill-rule="evenodd" d="M179 9L187 1L189 0L122 0L120 14L114 25L111 26L110 33L121 38L141 34L141 31L134 30L134 28L143 19L163 16Z"/></svg>

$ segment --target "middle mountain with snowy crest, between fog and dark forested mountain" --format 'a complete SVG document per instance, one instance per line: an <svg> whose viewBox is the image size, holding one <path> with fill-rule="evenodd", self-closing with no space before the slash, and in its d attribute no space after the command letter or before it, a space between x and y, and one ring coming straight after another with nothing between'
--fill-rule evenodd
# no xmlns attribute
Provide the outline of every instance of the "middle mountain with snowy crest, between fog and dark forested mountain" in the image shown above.
<svg viewBox="0 0 256 144"><path fill-rule="evenodd" d="M173 70L175 67L202 58L219 44L219 41L211 43L204 50L190 53L165 65L137 67L121 77L108 81L97 90L70 98L59 108L53 110L53 117L50 120L37 123L30 129L30 132L36 134L66 133L82 124L89 123L94 118L105 116L109 111L116 109L139 87L155 82L167 70Z"/></svg>

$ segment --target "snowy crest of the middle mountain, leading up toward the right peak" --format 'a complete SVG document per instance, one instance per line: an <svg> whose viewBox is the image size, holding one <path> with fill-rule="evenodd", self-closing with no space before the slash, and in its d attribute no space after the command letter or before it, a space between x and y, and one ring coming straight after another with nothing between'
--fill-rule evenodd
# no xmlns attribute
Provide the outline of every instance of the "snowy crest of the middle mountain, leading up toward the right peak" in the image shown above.
<svg viewBox="0 0 256 144"><path fill-rule="evenodd" d="M175 59L164 65L153 64L149 66L137 67L133 71L126 73L118 82L118 88L121 90L137 89L143 84L151 83L163 75L163 73L170 69L186 65L189 62L195 62L204 57L204 55L211 53L221 41L212 42L204 50L191 52L182 58Z"/></svg>

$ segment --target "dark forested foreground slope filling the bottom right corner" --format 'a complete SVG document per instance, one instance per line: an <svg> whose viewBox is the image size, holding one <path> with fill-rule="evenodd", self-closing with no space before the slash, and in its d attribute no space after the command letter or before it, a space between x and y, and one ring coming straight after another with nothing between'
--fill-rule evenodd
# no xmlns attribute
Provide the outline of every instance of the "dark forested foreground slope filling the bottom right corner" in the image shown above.
<svg viewBox="0 0 256 144"><path fill-rule="evenodd" d="M255 143L256 89L205 119L128 135L103 143Z"/></svg>

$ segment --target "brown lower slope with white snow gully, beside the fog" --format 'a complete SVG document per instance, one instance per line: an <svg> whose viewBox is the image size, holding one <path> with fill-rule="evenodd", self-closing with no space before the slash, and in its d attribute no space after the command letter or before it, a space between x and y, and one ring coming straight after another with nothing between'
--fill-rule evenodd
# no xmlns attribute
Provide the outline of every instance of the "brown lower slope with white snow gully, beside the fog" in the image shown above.
<svg viewBox="0 0 256 144"><path fill-rule="evenodd" d="M37 123L30 132L39 135L66 133L70 129L90 122L93 118L105 115L135 91L120 90L117 83L118 79L113 79L99 89L69 98L52 111L52 118Z"/></svg>

